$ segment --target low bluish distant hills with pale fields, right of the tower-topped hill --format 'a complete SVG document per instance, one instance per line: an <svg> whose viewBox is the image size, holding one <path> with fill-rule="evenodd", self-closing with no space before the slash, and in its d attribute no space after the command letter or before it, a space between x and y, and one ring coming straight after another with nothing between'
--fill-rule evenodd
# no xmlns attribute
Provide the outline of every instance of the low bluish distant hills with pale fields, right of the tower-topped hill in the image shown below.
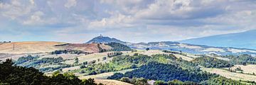
<svg viewBox="0 0 256 85"><path fill-rule="evenodd" d="M129 45L133 49L145 50L150 48L151 50L173 50L182 51L192 54L215 54L215 55L240 55L240 54L250 54L256 55L256 50L245 49L245 48L235 48L235 47L213 47L207 45L192 45L180 42L148 42L148 43L136 43Z"/></svg>

